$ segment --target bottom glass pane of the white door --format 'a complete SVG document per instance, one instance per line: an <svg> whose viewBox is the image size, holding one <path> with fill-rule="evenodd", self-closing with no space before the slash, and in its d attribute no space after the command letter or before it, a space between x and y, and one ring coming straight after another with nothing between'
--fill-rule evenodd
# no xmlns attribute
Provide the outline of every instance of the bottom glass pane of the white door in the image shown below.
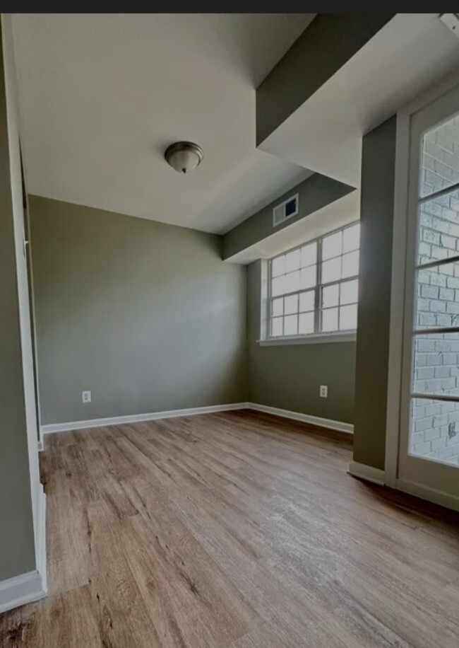
<svg viewBox="0 0 459 648"><path fill-rule="evenodd" d="M459 465L459 403L412 398L410 455Z"/></svg>

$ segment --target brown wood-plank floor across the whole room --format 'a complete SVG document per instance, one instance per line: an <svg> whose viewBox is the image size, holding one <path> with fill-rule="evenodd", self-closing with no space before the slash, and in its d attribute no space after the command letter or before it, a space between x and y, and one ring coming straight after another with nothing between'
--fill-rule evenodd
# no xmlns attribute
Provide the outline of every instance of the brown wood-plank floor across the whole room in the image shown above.
<svg viewBox="0 0 459 648"><path fill-rule="evenodd" d="M51 434L49 596L3 648L459 645L459 516L254 412Z"/></svg>

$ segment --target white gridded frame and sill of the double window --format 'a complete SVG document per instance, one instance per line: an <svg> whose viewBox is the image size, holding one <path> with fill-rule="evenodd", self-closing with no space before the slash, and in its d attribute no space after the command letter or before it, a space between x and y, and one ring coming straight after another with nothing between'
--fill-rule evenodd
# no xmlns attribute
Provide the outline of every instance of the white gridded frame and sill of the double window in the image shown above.
<svg viewBox="0 0 459 648"><path fill-rule="evenodd" d="M334 228L333 230L324 232L321 234L321 236L318 236L316 238L312 238L310 241L302 241L299 245L295 245L294 248L290 248L288 250L285 250L282 253L279 253L278 255L275 255L274 257L270 258L266 263L267 263L267 274L266 274L266 282L263 282L266 285L266 306L263 308L265 311L262 313L262 330L264 330L265 335L261 336L261 340L258 340L260 345L263 346L277 346L277 345L304 345L304 344L320 344L322 342L354 342L357 339L357 330L336 330L336 331L330 331L330 332L321 332L321 311L323 310L321 308L321 292L323 288L333 286L333 285L339 285L345 282L351 282L354 281L355 279L359 279L359 274L354 274L352 277L345 277L345 279L336 279L333 282L327 282L327 283L322 283L321 279L321 274L322 274L322 241L324 238L331 236L332 234L335 234L340 231L345 231L347 228L350 228L354 225L359 224L359 219L356 219L350 223L347 223L345 225L342 225L340 227ZM279 258L282 255L285 255L287 253L293 252L294 250L298 250L300 248L303 248L304 245L309 245L311 243L316 243L317 245L317 258L316 258L316 285L311 288L305 288L305 289L300 289L298 291L292 291L290 293L282 294L279 296L272 296L271 295L271 268L273 265L273 261L277 258ZM358 248L360 250L360 246ZM342 257L342 254L340 255ZM294 295L294 294L300 294L302 292L309 292L309 291L314 291L314 332L308 333L306 335L304 334L298 334L298 335L282 335L282 336L276 336L276 337L271 337L270 335L270 328L271 328L271 303L273 299L278 299L278 297L282 296L289 296L289 295ZM263 301L263 300L262 300ZM357 302L358 303L358 302ZM313 311L311 311L313 312ZM263 324L263 315L264 315L264 324Z"/></svg>

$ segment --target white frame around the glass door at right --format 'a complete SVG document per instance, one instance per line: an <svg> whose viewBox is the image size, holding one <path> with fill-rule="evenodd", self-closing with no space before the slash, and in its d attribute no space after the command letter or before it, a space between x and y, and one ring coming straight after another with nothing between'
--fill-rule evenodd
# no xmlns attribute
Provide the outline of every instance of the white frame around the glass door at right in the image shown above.
<svg viewBox="0 0 459 648"><path fill-rule="evenodd" d="M459 510L459 499L424 485L398 478L400 410L402 405L403 338L405 331L405 280L407 251L408 192L410 175L410 121L412 115L459 86L459 74L447 76L397 113L395 144L395 192L391 277L391 318L389 329L388 391L386 416L385 483ZM453 112L453 111L452 111ZM410 322L411 325L411 322Z"/></svg>

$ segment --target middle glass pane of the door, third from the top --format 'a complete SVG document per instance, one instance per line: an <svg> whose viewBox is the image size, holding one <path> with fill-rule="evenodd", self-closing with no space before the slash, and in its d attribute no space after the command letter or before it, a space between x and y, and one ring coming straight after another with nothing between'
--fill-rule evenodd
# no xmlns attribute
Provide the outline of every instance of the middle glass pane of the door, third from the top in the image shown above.
<svg viewBox="0 0 459 648"><path fill-rule="evenodd" d="M416 272L415 328L459 326L459 263Z"/></svg>

